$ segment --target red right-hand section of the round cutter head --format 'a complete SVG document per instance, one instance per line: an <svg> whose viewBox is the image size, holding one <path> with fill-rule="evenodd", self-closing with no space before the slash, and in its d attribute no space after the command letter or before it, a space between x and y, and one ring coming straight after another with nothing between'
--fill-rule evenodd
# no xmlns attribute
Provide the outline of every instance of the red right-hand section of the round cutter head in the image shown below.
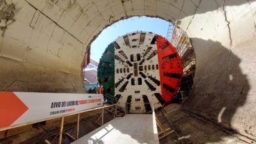
<svg viewBox="0 0 256 144"><path fill-rule="evenodd" d="M182 78L182 60L177 50L167 39L156 35L158 63L160 65L161 94L165 102L176 95Z"/></svg>

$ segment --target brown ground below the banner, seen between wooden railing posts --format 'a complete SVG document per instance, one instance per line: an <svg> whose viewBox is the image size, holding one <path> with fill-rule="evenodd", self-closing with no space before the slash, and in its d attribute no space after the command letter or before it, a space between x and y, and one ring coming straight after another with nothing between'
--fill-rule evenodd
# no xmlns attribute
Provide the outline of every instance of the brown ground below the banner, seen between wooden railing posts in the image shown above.
<svg viewBox="0 0 256 144"><path fill-rule="evenodd" d="M80 114L79 137L88 134L98 128L101 123L102 110L89 111ZM112 120L112 115L108 111L104 111L104 123ZM98 120L97 120L98 119ZM62 135L62 144L71 143L72 140L65 133L76 137L77 132L77 115L64 118L64 129ZM46 124L33 124L31 130L22 134L13 135L0 140L0 144L31 144L45 143L45 140L51 143L58 143L58 132L60 131L60 118L49 120Z"/></svg>

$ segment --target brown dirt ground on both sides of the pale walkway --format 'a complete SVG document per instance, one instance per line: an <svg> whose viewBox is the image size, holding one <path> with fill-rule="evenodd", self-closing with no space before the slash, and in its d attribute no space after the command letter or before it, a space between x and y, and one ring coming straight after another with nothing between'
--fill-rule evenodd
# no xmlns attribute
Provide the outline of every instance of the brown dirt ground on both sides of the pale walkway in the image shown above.
<svg viewBox="0 0 256 144"><path fill-rule="evenodd" d="M89 134L96 128L100 127L101 110L91 111L81 114L79 125L79 137ZM163 137L161 144L165 143L253 143L247 137L236 134L230 130L219 126L198 115L184 111L179 104L169 104L163 109L156 111L156 117L160 120L161 125L174 132ZM98 122L96 121L98 119ZM112 120L112 114L105 111L104 123ZM72 143L65 133L76 137L77 115L66 117L64 120L64 132L62 143ZM47 139L51 143L58 143L58 131L60 119L48 121L47 124L34 124L32 129L22 134L13 135L0 140L0 144L5 143L44 143ZM158 133L161 129L158 127Z"/></svg>

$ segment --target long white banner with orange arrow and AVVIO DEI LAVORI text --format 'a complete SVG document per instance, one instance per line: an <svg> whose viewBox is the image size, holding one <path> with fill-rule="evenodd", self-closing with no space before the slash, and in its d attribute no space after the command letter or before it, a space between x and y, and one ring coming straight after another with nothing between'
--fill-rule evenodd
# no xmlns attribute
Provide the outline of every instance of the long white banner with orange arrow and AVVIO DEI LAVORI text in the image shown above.
<svg viewBox="0 0 256 144"><path fill-rule="evenodd" d="M0 130L102 106L102 94L0 92Z"/></svg>

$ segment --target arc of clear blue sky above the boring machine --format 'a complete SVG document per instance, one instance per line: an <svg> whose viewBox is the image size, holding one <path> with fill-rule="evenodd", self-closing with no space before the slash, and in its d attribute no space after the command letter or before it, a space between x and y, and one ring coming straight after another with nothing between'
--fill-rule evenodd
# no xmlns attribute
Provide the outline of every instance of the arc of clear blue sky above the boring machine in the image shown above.
<svg viewBox="0 0 256 144"><path fill-rule="evenodd" d="M106 27L91 44L91 58L99 62L106 47L115 41L117 37L133 31L151 31L166 37L169 22L160 18L146 16L134 16L120 20L109 27Z"/></svg>

